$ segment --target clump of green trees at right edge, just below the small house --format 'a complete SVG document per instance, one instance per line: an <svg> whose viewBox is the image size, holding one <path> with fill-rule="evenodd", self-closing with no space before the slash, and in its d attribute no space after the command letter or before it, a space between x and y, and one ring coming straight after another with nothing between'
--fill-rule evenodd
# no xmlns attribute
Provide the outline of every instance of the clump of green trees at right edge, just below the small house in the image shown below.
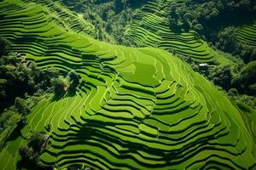
<svg viewBox="0 0 256 170"><path fill-rule="evenodd" d="M236 65L237 66L237 65ZM254 80L255 67L253 63L247 64L243 69L232 68L230 65L217 66L208 71L208 79L215 85L224 89L231 99L256 109ZM238 71L237 71L238 70Z"/></svg>

